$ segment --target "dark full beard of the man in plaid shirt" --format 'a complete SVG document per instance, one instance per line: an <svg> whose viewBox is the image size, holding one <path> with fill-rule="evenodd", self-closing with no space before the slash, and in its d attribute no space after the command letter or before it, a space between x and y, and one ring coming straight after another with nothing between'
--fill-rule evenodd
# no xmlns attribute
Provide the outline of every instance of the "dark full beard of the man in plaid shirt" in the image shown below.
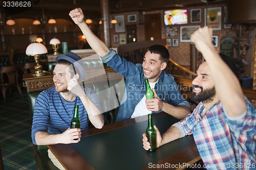
<svg viewBox="0 0 256 170"><path fill-rule="evenodd" d="M193 88L201 88L201 92L200 93L195 93L194 91L191 91L190 93L190 100L193 102L203 102L203 103L209 103L211 101L214 100L216 91L215 88L212 87L210 89L205 89L203 90L203 87L201 86L197 86L197 85L193 85Z"/></svg>

